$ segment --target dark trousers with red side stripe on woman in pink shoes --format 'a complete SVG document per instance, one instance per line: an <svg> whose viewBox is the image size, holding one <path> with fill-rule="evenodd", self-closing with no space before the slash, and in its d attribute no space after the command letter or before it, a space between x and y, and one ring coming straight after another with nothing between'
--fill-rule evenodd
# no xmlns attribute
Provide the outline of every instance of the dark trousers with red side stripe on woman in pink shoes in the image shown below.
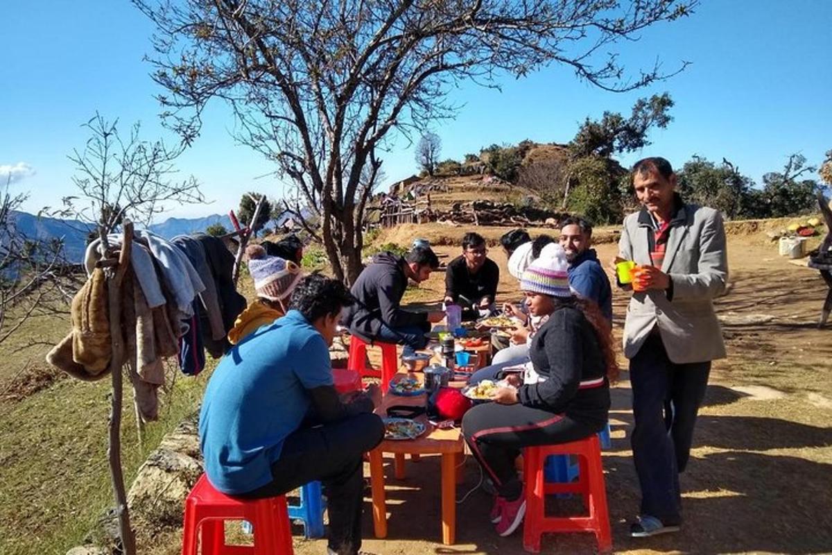
<svg viewBox="0 0 832 555"><path fill-rule="evenodd" d="M522 493L514 460L520 449L564 444L595 434L607 424L578 422L564 414L522 404L478 404L463 417L463 435L474 458L493 480L501 497L514 501Z"/></svg>

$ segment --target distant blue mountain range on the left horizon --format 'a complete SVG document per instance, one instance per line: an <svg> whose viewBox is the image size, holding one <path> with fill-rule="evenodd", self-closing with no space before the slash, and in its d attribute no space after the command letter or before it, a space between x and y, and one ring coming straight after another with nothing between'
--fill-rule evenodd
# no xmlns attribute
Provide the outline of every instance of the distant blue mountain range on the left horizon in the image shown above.
<svg viewBox="0 0 832 555"><path fill-rule="evenodd" d="M94 225L77 220L61 220L59 218L37 217L27 212L12 212L12 225L20 235L29 239L50 240L62 238L64 252L70 262L82 262L84 251L87 250L87 235ZM212 214L204 218L168 218L158 224L151 224L148 230L166 239L176 235L189 235L205 231L209 225L220 223L230 229L228 216Z"/></svg>

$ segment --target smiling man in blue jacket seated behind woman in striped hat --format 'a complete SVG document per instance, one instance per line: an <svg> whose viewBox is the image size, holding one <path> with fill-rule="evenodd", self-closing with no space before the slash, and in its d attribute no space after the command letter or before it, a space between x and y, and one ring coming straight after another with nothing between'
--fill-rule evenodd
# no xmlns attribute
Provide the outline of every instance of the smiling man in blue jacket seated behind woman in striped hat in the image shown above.
<svg viewBox="0 0 832 555"><path fill-rule="evenodd" d="M592 224L580 216L561 222L560 243L569 260L569 286L585 299L594 300L612 321L612 287L592 246Z"/></svg>

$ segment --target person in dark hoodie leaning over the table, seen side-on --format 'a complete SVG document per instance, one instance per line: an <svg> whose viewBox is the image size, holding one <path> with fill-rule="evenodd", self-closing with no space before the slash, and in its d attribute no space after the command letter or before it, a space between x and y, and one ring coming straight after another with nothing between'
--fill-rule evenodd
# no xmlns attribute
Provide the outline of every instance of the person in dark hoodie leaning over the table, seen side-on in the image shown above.
<svg viewBox="0 0 832 555"><path fill-rule="evenodd" d="M430 323L444 318L443 312L410 312L399 303L408 280L421 283L439 267L439 259L429 247L415 247L407 255L391 252L375 255L355 280L352 294L356 303L344 311L342 324L364 339L404 344L404 354L424 349Z"/></svg>

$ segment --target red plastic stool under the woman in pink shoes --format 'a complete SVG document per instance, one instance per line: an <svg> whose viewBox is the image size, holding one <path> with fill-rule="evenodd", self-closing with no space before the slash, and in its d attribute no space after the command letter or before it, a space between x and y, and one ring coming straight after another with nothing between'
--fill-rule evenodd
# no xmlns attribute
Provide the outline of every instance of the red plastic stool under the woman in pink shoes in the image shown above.
<svg viewBox="0 0 832 555"><path fill-rule="evenodd" d="M577 482L546 482L543 463L549 455L577 455L580 473ZM540 553L540 538L544 532L592 532L598 541L599 552L612 550L610 515L607 509L607 488L601 463L601 444L597 434L568 444L529 447L523 453L526 479L526 519L522 529L523 548ZM580 493L588 516L547 517L547 493Z"/></svg>

